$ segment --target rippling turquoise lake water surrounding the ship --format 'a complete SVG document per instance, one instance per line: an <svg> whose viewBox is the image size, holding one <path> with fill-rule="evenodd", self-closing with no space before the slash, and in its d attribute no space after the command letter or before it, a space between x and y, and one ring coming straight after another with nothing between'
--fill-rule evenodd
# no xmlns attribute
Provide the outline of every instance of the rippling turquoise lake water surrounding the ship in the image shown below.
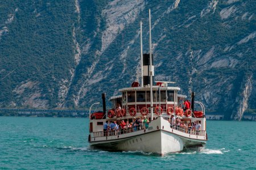
<svg viewBox="0 0 256 170"><path fill-rule="evenodd" d="M208 121L206 148L88 150L88 118L0 117L0 169L256 169L256 122Z"/></svg>

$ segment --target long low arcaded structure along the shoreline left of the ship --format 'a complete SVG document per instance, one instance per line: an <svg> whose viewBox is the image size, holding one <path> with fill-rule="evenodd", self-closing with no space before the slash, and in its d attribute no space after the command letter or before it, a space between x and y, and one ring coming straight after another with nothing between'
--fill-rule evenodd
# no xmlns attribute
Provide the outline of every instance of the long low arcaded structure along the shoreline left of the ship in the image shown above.
<svg viewBox="0 0 256 170"><path fill-rule="evenodd" d="M86 110L67 110L67 109L18 109L18 108L0 108L0 116L79 116L86 117L89 111Z"/></svg>

